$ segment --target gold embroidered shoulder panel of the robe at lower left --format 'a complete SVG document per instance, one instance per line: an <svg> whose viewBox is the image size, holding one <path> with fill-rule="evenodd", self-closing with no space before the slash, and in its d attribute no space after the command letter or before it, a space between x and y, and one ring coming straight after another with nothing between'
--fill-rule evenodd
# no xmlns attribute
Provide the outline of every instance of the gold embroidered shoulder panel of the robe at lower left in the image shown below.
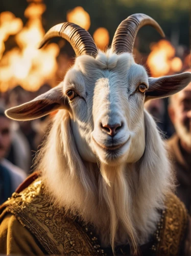
<svg viewBox="0 0 191 256"><path fill-rule="evenodd" d="M78 223L53 208L44 193L44 185L36 179L20 194L13 193L6 202L6 211L26 226L49 254L97 254L91 241Z"/></svg>

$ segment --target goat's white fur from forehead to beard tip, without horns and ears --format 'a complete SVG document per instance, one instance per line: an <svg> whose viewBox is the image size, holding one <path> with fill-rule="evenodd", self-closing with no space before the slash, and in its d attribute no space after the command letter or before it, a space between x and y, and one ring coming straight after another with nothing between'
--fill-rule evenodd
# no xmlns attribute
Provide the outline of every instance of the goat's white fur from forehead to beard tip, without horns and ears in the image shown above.
<svg viewBox="0 0 191 256"><path fill-rule="evenodd" d="M36 162L55 204L93 223L102 246L130 243L136 251L156 229L158 210L173 179L162 139L144 111L145 69L124 53L80 56L63 81L77 97L70 111L59 110ZM110 138L100 122L123 121L116 154L99 147ZM116 143L115 141L115 143Z"/></svg>

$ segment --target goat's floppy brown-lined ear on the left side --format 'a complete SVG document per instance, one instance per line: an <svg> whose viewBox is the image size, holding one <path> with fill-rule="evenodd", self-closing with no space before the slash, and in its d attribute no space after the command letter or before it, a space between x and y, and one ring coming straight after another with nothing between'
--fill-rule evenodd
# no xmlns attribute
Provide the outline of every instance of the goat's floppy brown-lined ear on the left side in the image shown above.
<svg viewBox="0 0 191 256"><path fill-rule="evenodd" d="M14 120L32 120L58 109L67 109L68 100L62 93L61 83L35 99L5 111Z"/></svg>

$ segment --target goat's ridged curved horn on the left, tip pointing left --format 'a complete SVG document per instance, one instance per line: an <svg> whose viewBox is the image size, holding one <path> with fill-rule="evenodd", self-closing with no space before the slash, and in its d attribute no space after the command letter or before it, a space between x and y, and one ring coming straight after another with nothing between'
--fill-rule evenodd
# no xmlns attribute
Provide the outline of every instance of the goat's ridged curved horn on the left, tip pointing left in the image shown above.
<svg viewBox="0 0 191 256"><path fill-rule="evenodd" d="M98 49L90 34L80 26L68 22L52 27L44 35L39 49L44 46L47 41L56 36L66 39L73 47L77 56L86 54L96 57L98 54Z"/></svg>

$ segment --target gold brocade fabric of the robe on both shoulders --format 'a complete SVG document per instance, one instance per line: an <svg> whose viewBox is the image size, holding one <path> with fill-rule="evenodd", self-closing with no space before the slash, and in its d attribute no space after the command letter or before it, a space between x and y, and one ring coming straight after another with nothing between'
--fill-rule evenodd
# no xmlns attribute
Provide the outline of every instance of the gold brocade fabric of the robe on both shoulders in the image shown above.
<svg viewBox="0 0 191 256"><path fill-rule="evenodd" d="M155 233L155 242L151 248L156 255L177 255L187 214L184 205L174 195L166 199L166 209ZM44 250L52 255L95 255L103 254L97 238L87 232L74 218L65 216L64 211L53 207L47 197L44 184L36 179L19 194L0 207L0 220L11 212L28 228Z"/></svg>

